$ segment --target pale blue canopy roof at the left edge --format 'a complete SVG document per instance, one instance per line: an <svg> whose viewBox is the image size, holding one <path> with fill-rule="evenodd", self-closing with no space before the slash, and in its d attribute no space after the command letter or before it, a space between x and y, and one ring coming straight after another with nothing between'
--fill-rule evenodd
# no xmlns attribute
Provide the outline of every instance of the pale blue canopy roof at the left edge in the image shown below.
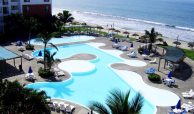
<svg viewBox="0 0 194 114"><path fill-rule="evenodd" d="M19 55L17 55L16 53L11 52L10 50L0 46L0 60L9 60L18 57Z"/></svg>

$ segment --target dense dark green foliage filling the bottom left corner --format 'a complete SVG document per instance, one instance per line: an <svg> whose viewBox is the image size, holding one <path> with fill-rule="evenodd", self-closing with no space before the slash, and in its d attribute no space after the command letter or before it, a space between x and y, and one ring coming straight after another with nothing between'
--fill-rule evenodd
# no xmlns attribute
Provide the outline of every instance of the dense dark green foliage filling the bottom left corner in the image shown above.
<svg viewBox="0 0 194 114"><path fill-rule="evenodd" d="M24 88L19 82L0 80L1 114L50 114L46 93Z"/></svg>

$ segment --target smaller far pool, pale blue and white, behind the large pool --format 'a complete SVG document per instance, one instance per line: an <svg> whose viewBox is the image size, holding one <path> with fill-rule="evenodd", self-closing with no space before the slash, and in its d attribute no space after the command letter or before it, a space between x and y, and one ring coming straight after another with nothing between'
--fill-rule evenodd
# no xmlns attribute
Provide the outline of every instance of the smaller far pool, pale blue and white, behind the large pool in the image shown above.
<svg viewBox="0 0 194 114"><path fill-rule="evenodd" d="M93 36L76 35L76 36L63 37L63 38L52 38L49 42L56 45L56 44L88 41L93 39L95 39L95 37ZM43 45L43 43L41 42L36 42L36 39L31 39L30 43L33 45Z"/></svg>

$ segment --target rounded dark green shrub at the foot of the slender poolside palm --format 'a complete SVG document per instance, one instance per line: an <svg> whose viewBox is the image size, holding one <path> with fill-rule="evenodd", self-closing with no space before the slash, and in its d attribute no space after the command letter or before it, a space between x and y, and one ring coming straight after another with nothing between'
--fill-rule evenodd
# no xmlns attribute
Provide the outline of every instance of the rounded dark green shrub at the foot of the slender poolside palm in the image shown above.
<svg viewBox="0 0 194 114"><path fill-rule="evenodd" d="M42 78L49 78L54 76L54 72L50 71L49 69L43 69L42 67L39 68L38 74Z"/></svg>

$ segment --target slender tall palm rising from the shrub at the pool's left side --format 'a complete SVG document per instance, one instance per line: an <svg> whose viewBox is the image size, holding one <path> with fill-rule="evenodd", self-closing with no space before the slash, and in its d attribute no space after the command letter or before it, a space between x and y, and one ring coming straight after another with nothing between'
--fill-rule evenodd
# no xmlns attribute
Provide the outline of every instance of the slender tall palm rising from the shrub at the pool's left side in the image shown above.
<svg viewBox="0 0 194 114"><path fill-rule="evenodd" d="M49 41L52 38L52 33L49 33L48 31L44 30L42 33L38 35L40 38L37 38L37 42L42 42L44 44L44 69L46 69L46 48L47 45L50 44L52 47L58 50L58 48L53 44L49 43Z"/></svg>

